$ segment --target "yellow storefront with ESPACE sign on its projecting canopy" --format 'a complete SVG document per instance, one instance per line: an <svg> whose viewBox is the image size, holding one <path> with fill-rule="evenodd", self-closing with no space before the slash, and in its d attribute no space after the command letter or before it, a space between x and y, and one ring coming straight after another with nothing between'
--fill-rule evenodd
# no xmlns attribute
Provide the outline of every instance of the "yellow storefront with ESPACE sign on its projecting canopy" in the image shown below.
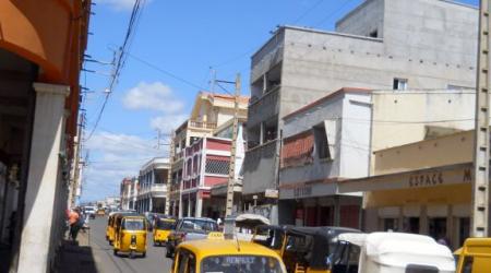
<svg viewBox="0 0 491 273"><path fill-rule="evenodd" d="M366 192L364 230L426 234L455 249L469 236L471 182L465 163L351 179L339 191Z"/></svg>

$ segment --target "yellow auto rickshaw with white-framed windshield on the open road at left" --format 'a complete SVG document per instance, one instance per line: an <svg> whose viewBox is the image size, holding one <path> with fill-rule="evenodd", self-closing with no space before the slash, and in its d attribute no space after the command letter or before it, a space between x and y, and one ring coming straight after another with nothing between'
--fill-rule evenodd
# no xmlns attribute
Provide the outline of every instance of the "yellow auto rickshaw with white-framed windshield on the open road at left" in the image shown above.
<svg viewBox="0 0 491 273"><path fill-rule="evenodd" d="M144 216L122 216L115 227L113 253L129 253L130 258L134 253L146 256L146 218Z"/></svg>

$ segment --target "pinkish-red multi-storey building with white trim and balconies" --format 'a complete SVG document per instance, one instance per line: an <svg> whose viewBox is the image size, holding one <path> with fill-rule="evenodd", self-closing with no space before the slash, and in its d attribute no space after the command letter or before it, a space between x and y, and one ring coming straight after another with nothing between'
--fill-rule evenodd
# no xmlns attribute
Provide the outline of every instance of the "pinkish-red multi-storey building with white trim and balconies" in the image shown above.
<svg viewBox="0 0 491 273"><path fill-rule="evenodd" d="M211 190L228 181L230 147L231 141L221 138L199 139L185 147L180 189L182 216L216 218L223 214L225 203L212 199Z"/></svg>

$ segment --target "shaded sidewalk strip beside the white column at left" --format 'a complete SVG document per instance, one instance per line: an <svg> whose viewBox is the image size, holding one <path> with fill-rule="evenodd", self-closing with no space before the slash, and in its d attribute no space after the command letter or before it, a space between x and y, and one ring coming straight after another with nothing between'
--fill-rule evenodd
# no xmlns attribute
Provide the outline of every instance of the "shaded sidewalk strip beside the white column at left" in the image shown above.
<svg viewBox="0 0 491 273"><path fill-rule="evenodd" d="M89 230L79 234L79 241L64 240L58 253L56 273L96 273L93 250L88 241Z"/></svg>

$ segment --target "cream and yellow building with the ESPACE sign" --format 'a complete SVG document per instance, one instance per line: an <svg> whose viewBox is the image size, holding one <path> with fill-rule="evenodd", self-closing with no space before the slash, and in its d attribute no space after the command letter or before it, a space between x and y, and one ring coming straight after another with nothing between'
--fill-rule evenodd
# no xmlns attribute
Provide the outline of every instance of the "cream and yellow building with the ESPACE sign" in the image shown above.
<svg viewBox="0 0 491 273"><path fill-rule="evenodd" d="M363 227L446 237L469 236L474 90L373 91L370 175L338 181L364 191Z"/></svg>

